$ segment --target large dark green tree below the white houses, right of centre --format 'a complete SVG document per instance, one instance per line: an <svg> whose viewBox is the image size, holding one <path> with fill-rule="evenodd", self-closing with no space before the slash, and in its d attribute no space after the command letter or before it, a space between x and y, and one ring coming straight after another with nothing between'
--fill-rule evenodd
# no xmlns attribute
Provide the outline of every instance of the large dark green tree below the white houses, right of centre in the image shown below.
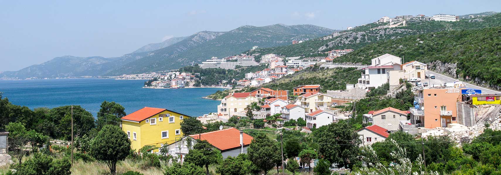
<svg viewBox="0 0 501 175"><path fill-rule="evenodd" d="M362 141L346 120L322 126L313 135L319 138L317 142L324 143L320 144L319 153L329 162L349 169L360 162L358 145Z"/></svg>

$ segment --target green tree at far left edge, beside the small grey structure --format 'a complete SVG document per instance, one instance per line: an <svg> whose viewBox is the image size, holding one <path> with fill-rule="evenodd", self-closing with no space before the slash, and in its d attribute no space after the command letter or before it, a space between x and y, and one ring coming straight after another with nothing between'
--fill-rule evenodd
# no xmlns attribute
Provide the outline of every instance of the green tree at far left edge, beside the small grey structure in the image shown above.
<svg viewBox="0 0 501 175"><path fill-rule="evenodd" d="M30 136L22 123L9 123L6 127L9 132L9 146L11 151L9 153L18 160L19 164L22 163L23 157L28 154L28 149L24 148L30 142Z"/></svg>

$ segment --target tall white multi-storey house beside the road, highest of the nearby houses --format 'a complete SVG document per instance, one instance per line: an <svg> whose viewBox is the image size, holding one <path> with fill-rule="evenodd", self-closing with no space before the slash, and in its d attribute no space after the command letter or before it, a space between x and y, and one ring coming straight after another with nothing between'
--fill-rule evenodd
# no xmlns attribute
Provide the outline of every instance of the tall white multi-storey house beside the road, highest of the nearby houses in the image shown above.
<svg viewBox="0 0 501 175"><path fill-rule="evenodd" d="M362 89L374 89L388 82L387 71L399 70L402 58L384 54L373 58L371 65L362 69L362 77L358 79L355 87Z"/></svg>

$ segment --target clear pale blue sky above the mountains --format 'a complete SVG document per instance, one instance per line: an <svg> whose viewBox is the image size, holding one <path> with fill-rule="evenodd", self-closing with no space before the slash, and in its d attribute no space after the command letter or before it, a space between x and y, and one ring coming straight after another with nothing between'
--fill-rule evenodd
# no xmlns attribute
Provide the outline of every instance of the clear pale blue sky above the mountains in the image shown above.
<svg viewBox="0 0 501 175"><path fill-rule="evenodd" d="M345 29L382 16L499 12L501 0L0 0L0 72L54 57L117 57L173 36L242 25Z"/></svg>

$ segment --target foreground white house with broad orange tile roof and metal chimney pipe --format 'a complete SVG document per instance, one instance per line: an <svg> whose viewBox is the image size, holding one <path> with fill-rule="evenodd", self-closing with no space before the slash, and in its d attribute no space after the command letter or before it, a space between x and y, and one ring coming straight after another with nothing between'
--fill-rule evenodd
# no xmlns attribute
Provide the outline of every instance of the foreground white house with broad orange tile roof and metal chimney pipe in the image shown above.
<svg viewBox="0 0 501 175"><path fill-rule="evenodd" d="M226 159L228 156L236 157L239 154L246 154L247 148L253 139L254 138L252 136L249 136L243 133L243 131L239 131L235 128L194 134L183 137L177 142L170 144L169 155L174 157L180 156L181 160L183 160L184 156L189 153L189 150L193 148L193 145L196 144L197 140L205 140L210 145L214 146L214 148L218 149L221 152L222 157Z"/></svg>

